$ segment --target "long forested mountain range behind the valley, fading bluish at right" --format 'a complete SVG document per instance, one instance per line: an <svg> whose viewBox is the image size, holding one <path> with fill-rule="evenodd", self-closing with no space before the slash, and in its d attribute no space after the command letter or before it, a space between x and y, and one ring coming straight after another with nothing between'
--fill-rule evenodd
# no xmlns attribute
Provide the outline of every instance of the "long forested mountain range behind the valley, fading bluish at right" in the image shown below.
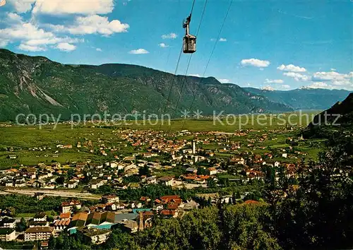
<svg viewBox="0 0 353 250"><path fill-rule="evenodd" d="M297 90L298 96L304 96L296 97L297 100L309 97L306 91L317 91L325 96L333 93L330 92L333 90ZM333 103L348 93L343 90L340 95L332 95ZM278 96L220 83L213 77L174 76L128 64L67 65L43 56L26 56L0 49L0 121L13 121L17 114L30 113L56 117L61 114L64 120L70 119L71 114L104 112L145 111L145 114L167 113L180 117L184 109L200 109L203 114L211 115L214 111L217 114L221 111L244 114L290 112L299 108L295 102L285 102L287 98ZM325 98L317 96L321 102L317 100L314 106L304 106L318 109L332 105Z"/></svg>

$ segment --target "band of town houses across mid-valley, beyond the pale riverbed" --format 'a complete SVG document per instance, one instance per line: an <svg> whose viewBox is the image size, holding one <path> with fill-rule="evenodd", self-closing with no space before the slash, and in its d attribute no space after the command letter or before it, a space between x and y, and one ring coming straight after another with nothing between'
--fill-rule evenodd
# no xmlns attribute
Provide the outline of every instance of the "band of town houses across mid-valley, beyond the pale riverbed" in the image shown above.
<svg viewBox="0 0 353 250"><path fill-rule="evenodd" d="M141 167L148 167L152 172L152 177L142 178L140 184L156 184L158 182L168 185L182 185L184 182L194 182L195 184L205 184L210 177L223 173L224 168L220 167L222 154L237 155L238 165L244 165L246 170L248 162L255 164L254 169L259 169L256 165L272 164L274 155L265 153L265 155L256 155L254 150L263 150L266 146L261 146L261 142L269 140L268 133L261 131L247 130L234 133L224 133L218 131L193 132L193 141L186 140L183 136L189 135L189 131L180 131L174 134L174 139L167 139L166 134L161 131L152 130L131 130L121 129L112 131L113 135L121 138L118 145L107 146L104 141L99 139L92 142L88 138L84 141L78 141L76 145L58 144L58 150L90 150L91 153L104 153L111 157L106 162L71 162L71 164L61 165L54 162L50 165L40 163L34 167L20 167L19 169L7 169L0 172L0 185L16 188L41 188L56 189L64 187L67 189L76 189L78 187L88 189L99 189L100 186L109 184L119 189L126 189L128 185L123 183L122 177L129 177L139 173ZM251 133L251 136L245 137ZM170 136L170 135L169 135ZM244 138L243 138L244 137ZM170 137L169 137L170 138ZM237 140L241 138L241 141ZM288 138L288 143L304 140L303 138ZM260 144L256 144L259 143ZM96 148L96 147L99 148ZM135 153L130 155L118 155L121 147L131 146ZM246 150L239 150L245 147ZM47 150L49 147L31 148L32 150ZM208 149L210 148L210 149ZM301 157L305 153L299 151L291 152L292 146L279 148L277 157L280 157L281 163L290 162L286 158ZM140 151L140 152L139 152ZM289 153L291 152L291 153ZM16 155L11 155L16 157ZM109 158L109 157L108 157ZM224 158L224 157L223 157ZM264 160L258 160L263 158ZM246 160L244 160L246 159ZM213 163L210 163L213 160ZM278 160L278 159L277 159ZM208 164L207 176L197 175L198 163L206 162ZM293 160L292 160L293 162ZM159 172L173 169L177 166L185 167L183 177L178 181L171 180L174 177L159 179ZM251 166L252 167L252 166ZM73 171L72 171L73 170ZM154 176L154 177L153 177ZM60 178L61 177L61 178ZM253 179L253 174L246 177ZM256 178L261 177L256 174ZM64 181L62 179L64 178ZM90 181L83 181L89 179ZM167 180L169 179L169 180ZM213 178L211 178L213 179ZM130 187L138 187L140 184L131 184Z"/></svg>

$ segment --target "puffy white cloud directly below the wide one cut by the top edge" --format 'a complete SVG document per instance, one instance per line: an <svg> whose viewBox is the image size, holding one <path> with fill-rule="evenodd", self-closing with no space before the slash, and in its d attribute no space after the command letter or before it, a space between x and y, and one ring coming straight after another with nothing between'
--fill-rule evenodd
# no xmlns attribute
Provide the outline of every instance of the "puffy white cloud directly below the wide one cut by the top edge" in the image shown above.
<svg viewBox="0 0 353 250"><path fill-rule="evenodd" d="M48 25L54 32L69 32L73 35L101 34L112 35L113 33L127 32L130 27L127 23L119 20L109 22L106 16L86 16L76 18L75 24L68 27L64 25Z"/></svg>

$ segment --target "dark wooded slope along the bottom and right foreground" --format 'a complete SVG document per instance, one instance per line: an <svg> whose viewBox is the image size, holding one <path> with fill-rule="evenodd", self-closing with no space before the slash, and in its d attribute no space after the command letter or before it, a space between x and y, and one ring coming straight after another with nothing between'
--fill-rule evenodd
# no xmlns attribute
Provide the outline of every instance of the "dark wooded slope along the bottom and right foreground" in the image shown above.
<svg viewBox="0 0 353 250"><path fill-rule="evenodd" d="M136 234L114 230L100 246L61 234L50 249L352 249L352 138L328 141L319 161L298 169L298 185L285 172L266 173L263 202L193 210L183 218L154 219Z"/></svg>

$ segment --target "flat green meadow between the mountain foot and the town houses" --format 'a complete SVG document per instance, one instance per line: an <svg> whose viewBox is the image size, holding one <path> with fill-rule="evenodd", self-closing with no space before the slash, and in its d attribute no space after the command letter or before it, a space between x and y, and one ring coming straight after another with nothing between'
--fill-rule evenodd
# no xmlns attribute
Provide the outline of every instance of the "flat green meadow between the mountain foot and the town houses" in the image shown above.
<svg viewBox="0 0 353 250"><path fill-rule="evenodd" d="M45 126L0 126L0 168L19 167L20 165L37 165L39 162L79 162L92 160L93 162L105 162L114 160L114 155L129 155L136 152L135 148L128 145L119 136L114 134L118 129L138 129L138 130L161 130L166 136L174 138L179 136L177 131L189 130L193 132L220 131L235 132L245 131L246 136L235 136L231 140L241 142L242 150L249 150L246 147L247 140L257 140L263 133L268 134L269 139L264 142L256 141L256 145L266 147L256 149L254 153L266 153L272 148L287 148L286 138L297 136L300 129L309 124L317 112L307 112L304 114L259 114L249 115L249 117L223 117L222 119L177 119L170 123L164 121L157 123L152 121L126 121L124 124L115 122L114 124L59 124ZM186 139L193 136L186 135ZM93 143L90 148L76 148L77 143ZM73 148L58 149L56 145L72 145ZM99 153L99 146L115 147L114 153L103 156ZM295 149L307 153L309 158L316 159L320 150L318 143L306 141L300 143ZM220 149L219 145L205 145L205 149ZM90 152L93 150L93 152ZM9 155L16 155L16 159L10 159ZM227 154L218 154L220 157L229 157Z"/></svg>

